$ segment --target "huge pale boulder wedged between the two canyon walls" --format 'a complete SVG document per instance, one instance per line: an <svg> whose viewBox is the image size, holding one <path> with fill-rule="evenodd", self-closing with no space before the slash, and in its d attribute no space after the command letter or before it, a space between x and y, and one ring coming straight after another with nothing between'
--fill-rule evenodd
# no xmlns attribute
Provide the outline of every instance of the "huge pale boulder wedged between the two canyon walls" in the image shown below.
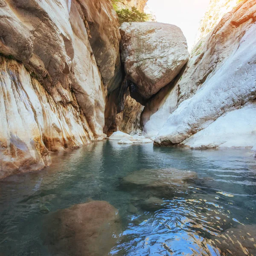
<svg viewBox="0 0 256 256"><path fill-rule="evenodd" d="M123 23L120 32L131 96L143 103L169 84L188 61L186 38L180 28L164 23Z"/></svg>

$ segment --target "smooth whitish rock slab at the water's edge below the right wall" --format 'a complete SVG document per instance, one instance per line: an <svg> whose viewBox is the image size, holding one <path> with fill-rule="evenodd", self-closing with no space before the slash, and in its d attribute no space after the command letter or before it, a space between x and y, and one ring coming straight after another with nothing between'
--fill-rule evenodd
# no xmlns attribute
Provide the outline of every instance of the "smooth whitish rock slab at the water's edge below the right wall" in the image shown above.
<svg viewBox="0 0 256 256"><path fill-rule="evenodd" d="M250 148L256 144L255 111L256 103L253 102L227 112L183 143L191 148Z"/></svg>

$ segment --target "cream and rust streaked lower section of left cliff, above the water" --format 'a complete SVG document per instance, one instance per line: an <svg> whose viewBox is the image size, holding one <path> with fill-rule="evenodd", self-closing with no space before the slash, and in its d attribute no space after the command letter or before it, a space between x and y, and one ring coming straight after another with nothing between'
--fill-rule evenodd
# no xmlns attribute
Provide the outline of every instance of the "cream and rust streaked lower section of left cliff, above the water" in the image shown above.
<svg viewBox="0 0 256 256"><path fill-rule="evenodd" d="M65 105L56 103L22 64L0 63L0 177L41 169L50 164L49 150L90 142L93 133L71 92Z"/></svg>

